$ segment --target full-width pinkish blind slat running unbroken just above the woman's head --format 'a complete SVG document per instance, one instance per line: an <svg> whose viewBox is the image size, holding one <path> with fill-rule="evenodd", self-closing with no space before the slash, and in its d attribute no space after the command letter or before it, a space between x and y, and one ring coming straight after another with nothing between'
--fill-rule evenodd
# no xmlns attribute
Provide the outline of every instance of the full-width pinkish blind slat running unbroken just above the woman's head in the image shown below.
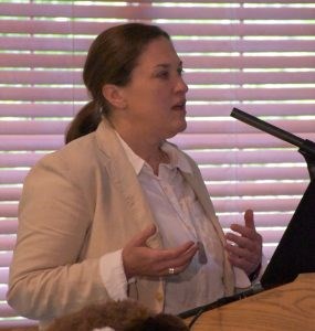
<svg viewBox="0 0 315 331"><path fill-rule="evenodd" d="M75 18L115 18L127 20L154 19L206 19L206 20L296 20L295 8L229 8L229 7L196 7L193 11L183 7L154 7L144 3L140 8L133 6L73 6L73 4L36 4L36 3L0 3L3 15L19 17L75 17ZM315 9L300 8L300 20L313 20Z"/></svg>

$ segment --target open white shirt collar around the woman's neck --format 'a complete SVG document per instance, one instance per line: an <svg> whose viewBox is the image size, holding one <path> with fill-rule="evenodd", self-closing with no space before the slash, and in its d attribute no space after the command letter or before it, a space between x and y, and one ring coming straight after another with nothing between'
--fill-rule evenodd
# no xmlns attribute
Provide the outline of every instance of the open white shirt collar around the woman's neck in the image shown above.
<svg viewBox="0 0 315 331"><path fill-rule="evenodd" d="M120 137L120 135L117 131L115 132L126 152L129 162L132 163L134 170L136 171L136 174L138 175L143 167L145 166L146 161L132 150L132 148L127 145L127 142ZM174 145L166 141L161 146L161 149L168 154L170 160L170 163L166 164L167 167L169 167L170 169L178 168L183 172L192 173L188 160Z"/></svg>

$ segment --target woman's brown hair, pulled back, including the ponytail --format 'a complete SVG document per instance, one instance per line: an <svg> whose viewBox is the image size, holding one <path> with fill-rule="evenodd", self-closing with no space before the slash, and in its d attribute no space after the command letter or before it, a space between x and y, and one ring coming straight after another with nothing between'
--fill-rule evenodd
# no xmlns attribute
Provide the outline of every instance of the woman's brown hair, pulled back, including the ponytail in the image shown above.
<svg viewBox="0 0 315 331"><path fill-rule="evenodd" d="M102 94L105 84L126 86L145 46L157 38L170 39L156 25L126 23L102 32L92 43L83 70L83 82L92 100L71 122L65 142L96 130L109 105Z"/></svg>

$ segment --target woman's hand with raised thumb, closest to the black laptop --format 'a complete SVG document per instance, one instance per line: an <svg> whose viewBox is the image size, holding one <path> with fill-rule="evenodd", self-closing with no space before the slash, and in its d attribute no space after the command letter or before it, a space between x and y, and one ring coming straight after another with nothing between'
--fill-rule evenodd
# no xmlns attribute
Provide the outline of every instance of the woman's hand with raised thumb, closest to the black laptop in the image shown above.
<svg viewBox="0 0 315 331"><path fill-rule="evenodd" d="M250 276L258 269L262 260L262 236L255 229L252 210L246 210L244 220L244 226L239 224L230 226L234 233L227 233L225 248L231 264L243 269Z"/></svg>

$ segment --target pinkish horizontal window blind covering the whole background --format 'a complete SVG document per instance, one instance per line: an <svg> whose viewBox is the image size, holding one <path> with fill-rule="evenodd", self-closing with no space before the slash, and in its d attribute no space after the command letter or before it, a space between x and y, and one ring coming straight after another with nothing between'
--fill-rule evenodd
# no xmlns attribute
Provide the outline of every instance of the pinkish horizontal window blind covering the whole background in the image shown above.
<svg viewBox="0 0 315 331"><path fill-rule="evenodd" d="M172 35L190 88L172 141L198 162L224 228L253 209L270 258L308 183L294 147L230 111L315 140L315 1L0 1L0 328L32 323L6 302L23 179L88 99L92 40L127 21Z"/></svg>

